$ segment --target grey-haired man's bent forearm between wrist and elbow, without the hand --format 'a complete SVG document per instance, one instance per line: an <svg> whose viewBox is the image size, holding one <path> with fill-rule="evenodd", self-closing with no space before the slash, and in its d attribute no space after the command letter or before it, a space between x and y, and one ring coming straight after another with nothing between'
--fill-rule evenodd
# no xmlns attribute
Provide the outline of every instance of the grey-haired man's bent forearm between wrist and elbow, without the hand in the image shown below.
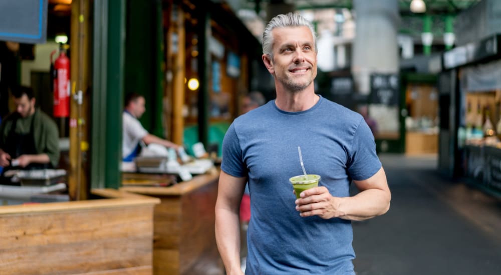
<svg viewBox="0 0 501 275"><path fill-rule="evenodd" d="M355 196L338 197L340 218L365 220L382 215L390 208L390 197L381 189L367 189Z"/></svg>

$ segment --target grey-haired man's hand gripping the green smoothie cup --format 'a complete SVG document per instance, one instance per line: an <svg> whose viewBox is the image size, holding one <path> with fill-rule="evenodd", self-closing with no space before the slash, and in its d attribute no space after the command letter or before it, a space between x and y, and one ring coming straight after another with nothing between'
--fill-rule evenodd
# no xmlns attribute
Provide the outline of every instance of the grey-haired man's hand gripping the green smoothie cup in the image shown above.
<svg viewBox="0 0 501 275"><path fill-rule="evenodd" d="M296 210L303 217L317 215L329 219L345 215L339 209L343 198L332 196L325 186L304 190L302 194L301 198L296 199Z"/></svg>

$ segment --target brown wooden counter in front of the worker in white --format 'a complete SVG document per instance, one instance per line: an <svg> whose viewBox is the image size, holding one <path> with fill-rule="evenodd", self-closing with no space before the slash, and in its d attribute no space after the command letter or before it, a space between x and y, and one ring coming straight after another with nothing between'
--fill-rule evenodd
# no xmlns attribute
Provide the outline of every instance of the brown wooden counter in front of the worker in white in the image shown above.
<svg viewBox="0 0 501 275"><path fill-rule="evenodd" d="M154 274L223 274L215 242L214 207L219 172L169 187L126 186L121 190L154 196Z"/></svg>

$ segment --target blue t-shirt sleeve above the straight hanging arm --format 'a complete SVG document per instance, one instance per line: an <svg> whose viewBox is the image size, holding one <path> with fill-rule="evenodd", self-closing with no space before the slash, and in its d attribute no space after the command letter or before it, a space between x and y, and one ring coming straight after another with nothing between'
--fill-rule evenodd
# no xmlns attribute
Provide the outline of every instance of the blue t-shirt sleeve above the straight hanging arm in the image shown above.
<svg viewBox="0 0 501 275"><path fill-rule="evenodd" d="M246 175L243 165L242 149L234 124L229 126L222 141L221 170L236 177Z"/></svg>

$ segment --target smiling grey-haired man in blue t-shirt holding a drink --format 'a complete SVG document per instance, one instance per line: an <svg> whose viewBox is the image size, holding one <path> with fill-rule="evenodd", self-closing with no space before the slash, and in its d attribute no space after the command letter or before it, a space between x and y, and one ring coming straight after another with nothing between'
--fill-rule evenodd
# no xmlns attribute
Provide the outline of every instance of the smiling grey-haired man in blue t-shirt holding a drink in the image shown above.
<svg viewBox="0 0 501 275"><path fill-rule="evenodd" d="M389 209L390 191L363 117L315 94L315 31L298 14L274 17L263 61L277 98L236 118L223 141L216 240L227 274L241 274L238 205L248 180L246 274L352 274L350 220ZM319 174L296 199L289 178ZM350 181L360 189L349 196Z"/></svg>

